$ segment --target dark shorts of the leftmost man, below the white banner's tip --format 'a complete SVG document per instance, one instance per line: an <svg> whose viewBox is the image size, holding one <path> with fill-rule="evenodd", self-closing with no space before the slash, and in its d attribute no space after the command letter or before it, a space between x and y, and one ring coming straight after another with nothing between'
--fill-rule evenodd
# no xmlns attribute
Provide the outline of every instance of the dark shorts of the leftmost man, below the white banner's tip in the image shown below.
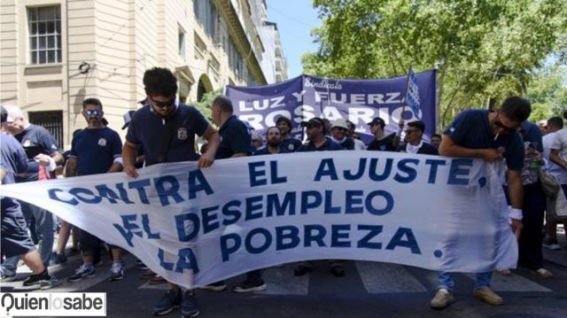
<svg viewBox="0 0 567 318"><path fill-rule="evenodd" d="M2 213L2 234L0 249L5 257L20 256L35 250L29 237L26 219L19 213Z"/></svg>

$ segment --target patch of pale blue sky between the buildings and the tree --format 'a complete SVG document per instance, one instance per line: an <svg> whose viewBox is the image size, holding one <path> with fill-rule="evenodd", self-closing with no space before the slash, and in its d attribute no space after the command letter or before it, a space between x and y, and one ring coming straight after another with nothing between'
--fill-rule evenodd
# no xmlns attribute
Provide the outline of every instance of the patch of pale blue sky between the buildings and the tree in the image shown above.
<svg viewBox="0 0 567 318"><path fill-rule="evenodd" d="M311 30L321 26L317 12L308 0L267 0L268 21L276 22L280 32L283 55L287 59L288 78L299 76L303 70L301 56L315 52Z"/></svg>

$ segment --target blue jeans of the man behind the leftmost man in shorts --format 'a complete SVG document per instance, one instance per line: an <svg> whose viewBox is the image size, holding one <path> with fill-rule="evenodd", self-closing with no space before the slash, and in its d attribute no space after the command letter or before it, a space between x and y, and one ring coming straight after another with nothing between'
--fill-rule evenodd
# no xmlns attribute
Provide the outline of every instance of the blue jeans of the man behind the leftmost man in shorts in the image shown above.
<svg viewBox="0 0 567 318"><path fill-rule="evenodd" d="M19 201L19 205L21 206L21 212L24 213L28 227L30 220L32 220L32 216L35 220L35 234L39 239L38 252L42 257L43 266L47 268L50 265L53 240L55 236L53 229L53 215L41 207L30 205L24 201ZM2 263L2 270L4 273L7 275L15 274L19 259L19 256L13 256L4 260L4 263Z"/></svg>

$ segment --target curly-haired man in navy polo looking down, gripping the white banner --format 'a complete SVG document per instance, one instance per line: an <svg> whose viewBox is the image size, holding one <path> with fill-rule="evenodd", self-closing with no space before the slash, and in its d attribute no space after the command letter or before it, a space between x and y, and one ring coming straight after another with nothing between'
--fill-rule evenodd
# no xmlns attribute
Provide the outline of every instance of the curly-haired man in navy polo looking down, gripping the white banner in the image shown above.
<svg viewBox="0 0 567 318"><path fill-rule="evenodd" d="M147 105L132 116L122 148L124 172L138 177L136 157L140 146L144 147L146 166L198 160L198 167L210 167L219 147L219 135L195 107L176 103L175 75L167 68L151 68L144 73L144 89ZM209 143L200 158L195 151L195 135L203 136ZM168 287L152 314L168 314L179 306L183 317L199 314L193 291L185 291L182 295L174 283L168 283Z"/></svg>

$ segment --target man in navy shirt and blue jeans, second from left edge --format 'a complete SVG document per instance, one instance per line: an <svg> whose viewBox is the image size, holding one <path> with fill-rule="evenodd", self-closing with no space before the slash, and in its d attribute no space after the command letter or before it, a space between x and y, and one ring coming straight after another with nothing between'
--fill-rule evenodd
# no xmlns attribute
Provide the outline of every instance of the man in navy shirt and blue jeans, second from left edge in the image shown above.
<svg viewBox="0 0 567 318"><path fill-rule="evenodd" d="M23 112L16 105L4 105L8 117L4 123L4 130L14 136L24 147L27 155L27 176L16 177L16 182L32 182L48 179L50 172L57 165L63 164L63 155L59 151L57 141L47 129L27 122ZM43 265L50 264L53 249L54 231L53 215L39 207L27 202L21 202L21 210L26 217L28 226L34 221L35 236L39 239L39 252L42 255ZM4 261L2 274L16 275L16 265L19 258Z"/></svg>

